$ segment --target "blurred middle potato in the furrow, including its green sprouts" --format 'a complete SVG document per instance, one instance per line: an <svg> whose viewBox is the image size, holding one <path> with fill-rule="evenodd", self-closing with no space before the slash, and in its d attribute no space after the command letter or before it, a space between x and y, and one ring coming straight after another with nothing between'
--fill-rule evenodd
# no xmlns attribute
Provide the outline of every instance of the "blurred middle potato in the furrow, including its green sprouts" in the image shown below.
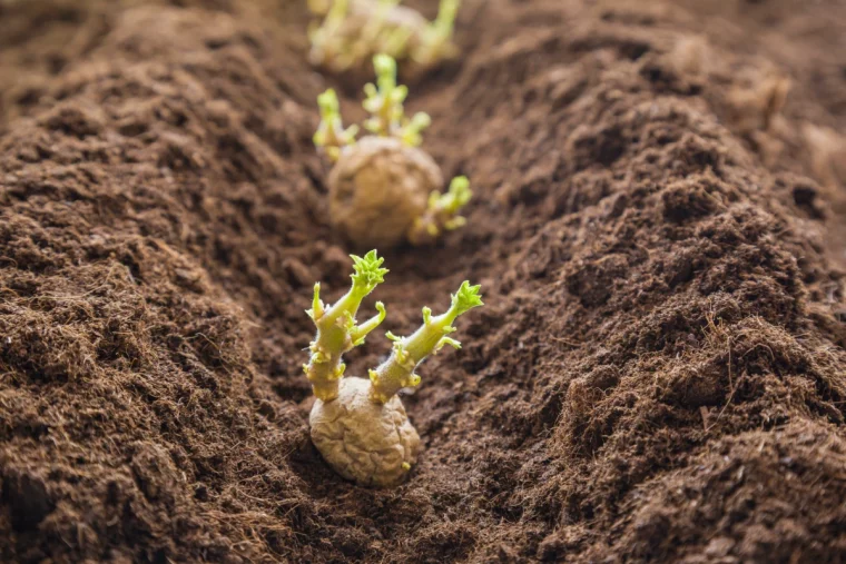
<svg viewBox="0 0 846 564"><path fill-rule="evenodd" d="M373 65L376 85L364 89L371 113L364 127L371 136L356 141L357 128L344 129L334 90L317 99L321 123L314 142L335 162L328 177L329 220L358 248L394 247L405 239L429 244L464 225L459 211L472 196L470 182L454 178L441 194L441 171L417 147L430 117L405 117L409 89L396 83L394 59L377 55Z"/></svg>

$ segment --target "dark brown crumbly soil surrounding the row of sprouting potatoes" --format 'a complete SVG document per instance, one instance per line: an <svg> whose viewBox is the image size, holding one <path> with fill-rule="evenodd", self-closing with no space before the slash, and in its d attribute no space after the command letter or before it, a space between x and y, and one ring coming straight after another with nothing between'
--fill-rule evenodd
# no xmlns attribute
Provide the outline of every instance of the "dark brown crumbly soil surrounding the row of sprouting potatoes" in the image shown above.
<svg viewBox="0 0 846 564"><path fill-rule="evenodd" d="M381 491L308 438L315 97L361 85L304 3L0 1L0 557L846 561L846 7L464 0L409 106L468 226L363 315L486 305Z"/></svg>

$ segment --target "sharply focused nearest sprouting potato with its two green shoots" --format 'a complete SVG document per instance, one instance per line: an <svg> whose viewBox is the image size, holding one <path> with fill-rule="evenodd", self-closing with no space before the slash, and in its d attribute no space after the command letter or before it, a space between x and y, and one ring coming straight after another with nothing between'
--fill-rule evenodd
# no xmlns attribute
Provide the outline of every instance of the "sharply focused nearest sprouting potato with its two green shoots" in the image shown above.
<svg viewBox="0 0 846 564"><path fill-rule="evenodd" d="M376 259L375 251L368 253L367 257L367 265L384 270L378 269L381 259ZM356 263L356 266L361 264ZM376 271L374 267L367 268L372 273ZM463 283L452 296L450 309L444 314L432 317L431 309L424 307L423 325L414 334L403 338L387 334L393 340L393 350L384 363L370 370L370 379L342 377L343 368L333 370L332 366L343 367L341 355L357 344L355 338L358 335L363 339L363 335L384 318L384 307L377 305L380 316L362 328L355 327L354 320L351 320L354 315L351 311L357 309L361 301L358 296L366 288L375 287L376 279L382 281L381 275L374 275L372 283L358 286L356 290L354 275L353 289L319 316L314 315L314 311L323 310L322 305L317 307L319 299L315 293L316 306L309 315L315 319L318 336L313 343L312 360L306 365L306 374L309 374L317 399L308 422L312 442L341 476L364 486L393 487L405 479L420 452L420 436L396 394L404 387L420 384L420 376L414 370L426 356L444 345L461 348L461 344L449 336L455 330L452 324L469 309L481 306L482 299L479 286ZM326 317L327 315L333 317ZM329 334L327 323L337 330ZM318 345L315 347L315 344ZM318 358L319 362L315 360L317 354L323 355ZM313 378L308 369L313 363L317 366L326 365L329 377ZM319 386L315 385L317 382Z"/></svg>

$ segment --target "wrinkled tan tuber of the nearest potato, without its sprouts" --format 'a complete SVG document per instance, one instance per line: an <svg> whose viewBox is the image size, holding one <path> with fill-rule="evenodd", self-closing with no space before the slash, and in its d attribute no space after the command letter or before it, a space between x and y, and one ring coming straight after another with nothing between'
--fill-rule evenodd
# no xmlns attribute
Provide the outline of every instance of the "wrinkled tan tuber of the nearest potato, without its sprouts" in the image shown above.
<svg viewBox="0 0 846 564"><path fill-rule="evenodd" d="M308 417L312 442L346 479L395 487L417 461L420 435L400 398L375 404L367 397L370 385L363 378L343 378L336 399L317 399Z"/></svg>

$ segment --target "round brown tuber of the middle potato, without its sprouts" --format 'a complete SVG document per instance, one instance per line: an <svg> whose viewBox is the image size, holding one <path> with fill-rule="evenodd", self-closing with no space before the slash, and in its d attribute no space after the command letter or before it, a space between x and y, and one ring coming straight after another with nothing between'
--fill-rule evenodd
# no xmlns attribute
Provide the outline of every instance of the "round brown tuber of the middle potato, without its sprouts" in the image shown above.
<svg viewBox="0 0 846 564"><path fill-rule="evenodd" d="M358 248L395 247L443 186L437 164L392 137L345 147L329 172L329 219Z"/></svg>

